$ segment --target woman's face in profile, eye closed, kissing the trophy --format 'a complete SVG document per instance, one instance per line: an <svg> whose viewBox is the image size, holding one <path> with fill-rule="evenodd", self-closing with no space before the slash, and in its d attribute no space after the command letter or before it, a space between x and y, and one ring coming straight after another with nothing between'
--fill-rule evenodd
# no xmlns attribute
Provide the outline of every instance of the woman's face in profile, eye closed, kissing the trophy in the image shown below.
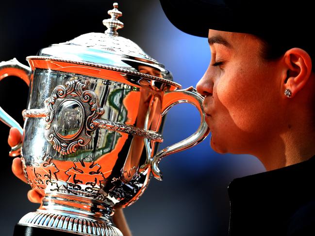
<svg viewBox="0 0 315 236"><path fill-rule="evenodd" d="M282 122L279 63L265 61L262 42L250 34L209 30L208 41L211 62L197 90L206 95L211 147L257 155Z"/></svg>

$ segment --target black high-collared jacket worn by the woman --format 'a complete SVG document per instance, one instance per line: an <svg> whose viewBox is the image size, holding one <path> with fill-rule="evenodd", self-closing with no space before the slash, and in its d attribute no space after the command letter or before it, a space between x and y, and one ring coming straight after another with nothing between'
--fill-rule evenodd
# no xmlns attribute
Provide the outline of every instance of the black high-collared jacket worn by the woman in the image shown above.
<svg viewBox="0 0 315 236"><path fill-rule="evenodd" d="M315 157L229 185L230 236L315 236Z"/></svg>

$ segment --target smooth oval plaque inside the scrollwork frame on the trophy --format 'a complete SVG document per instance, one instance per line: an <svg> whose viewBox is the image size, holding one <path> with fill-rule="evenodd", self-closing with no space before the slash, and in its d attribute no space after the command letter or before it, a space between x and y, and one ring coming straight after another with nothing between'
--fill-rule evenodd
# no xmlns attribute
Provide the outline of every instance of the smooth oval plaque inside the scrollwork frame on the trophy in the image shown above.
<svg viewBox="0 0 315 236"><path fill-rule="evenodd" d="M74 99L67 99L57 109L54 129L63 140L71 140L80 134L83 121L83 106Z"/></svg>

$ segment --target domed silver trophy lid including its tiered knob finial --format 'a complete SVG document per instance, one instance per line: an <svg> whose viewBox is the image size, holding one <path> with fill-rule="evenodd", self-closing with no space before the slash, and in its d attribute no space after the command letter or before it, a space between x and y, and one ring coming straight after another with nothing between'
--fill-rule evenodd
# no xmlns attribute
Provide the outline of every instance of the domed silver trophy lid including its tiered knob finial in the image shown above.
<svg viewBox="0 0 315 236"><path fill-rule="evenodd" d="M52 44L41 49L37 56L27 59L43 58L105 66L180 88L180 84L172 82L172 75L163 64L151 58L133 41L118 36L117 30L123 28L124 24L118 20L118 17L122 16L118 3L115 2L113 6L114 9L108 11L111 18L103 20L107 27L104 33L85 33L65 43Z"/></svg>

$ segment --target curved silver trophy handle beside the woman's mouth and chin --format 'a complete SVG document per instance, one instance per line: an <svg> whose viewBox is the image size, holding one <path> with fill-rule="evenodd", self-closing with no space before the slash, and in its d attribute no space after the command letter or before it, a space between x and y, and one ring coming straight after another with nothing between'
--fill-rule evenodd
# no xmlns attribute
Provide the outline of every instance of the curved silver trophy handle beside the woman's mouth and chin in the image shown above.
<svg viewBox="0 0 315 236"><path fill-rule="evenodd" d="M165 115L166 112L176 104L190 103L199 110L201 120L200 125L195 133L193 133L191 136L181 142L177 142L171 146L164 148L163 150L159 151L154 157L152 157L152 174L156 179L162 180L162 173L159 170L159 163L163 157L190 148L204 140L209 134L210 130L205 123L205 112L202 109L203 99L203 96L199 94L197 90L192 86L183 90L165 92L162 103L162 116Z"/></svg>

